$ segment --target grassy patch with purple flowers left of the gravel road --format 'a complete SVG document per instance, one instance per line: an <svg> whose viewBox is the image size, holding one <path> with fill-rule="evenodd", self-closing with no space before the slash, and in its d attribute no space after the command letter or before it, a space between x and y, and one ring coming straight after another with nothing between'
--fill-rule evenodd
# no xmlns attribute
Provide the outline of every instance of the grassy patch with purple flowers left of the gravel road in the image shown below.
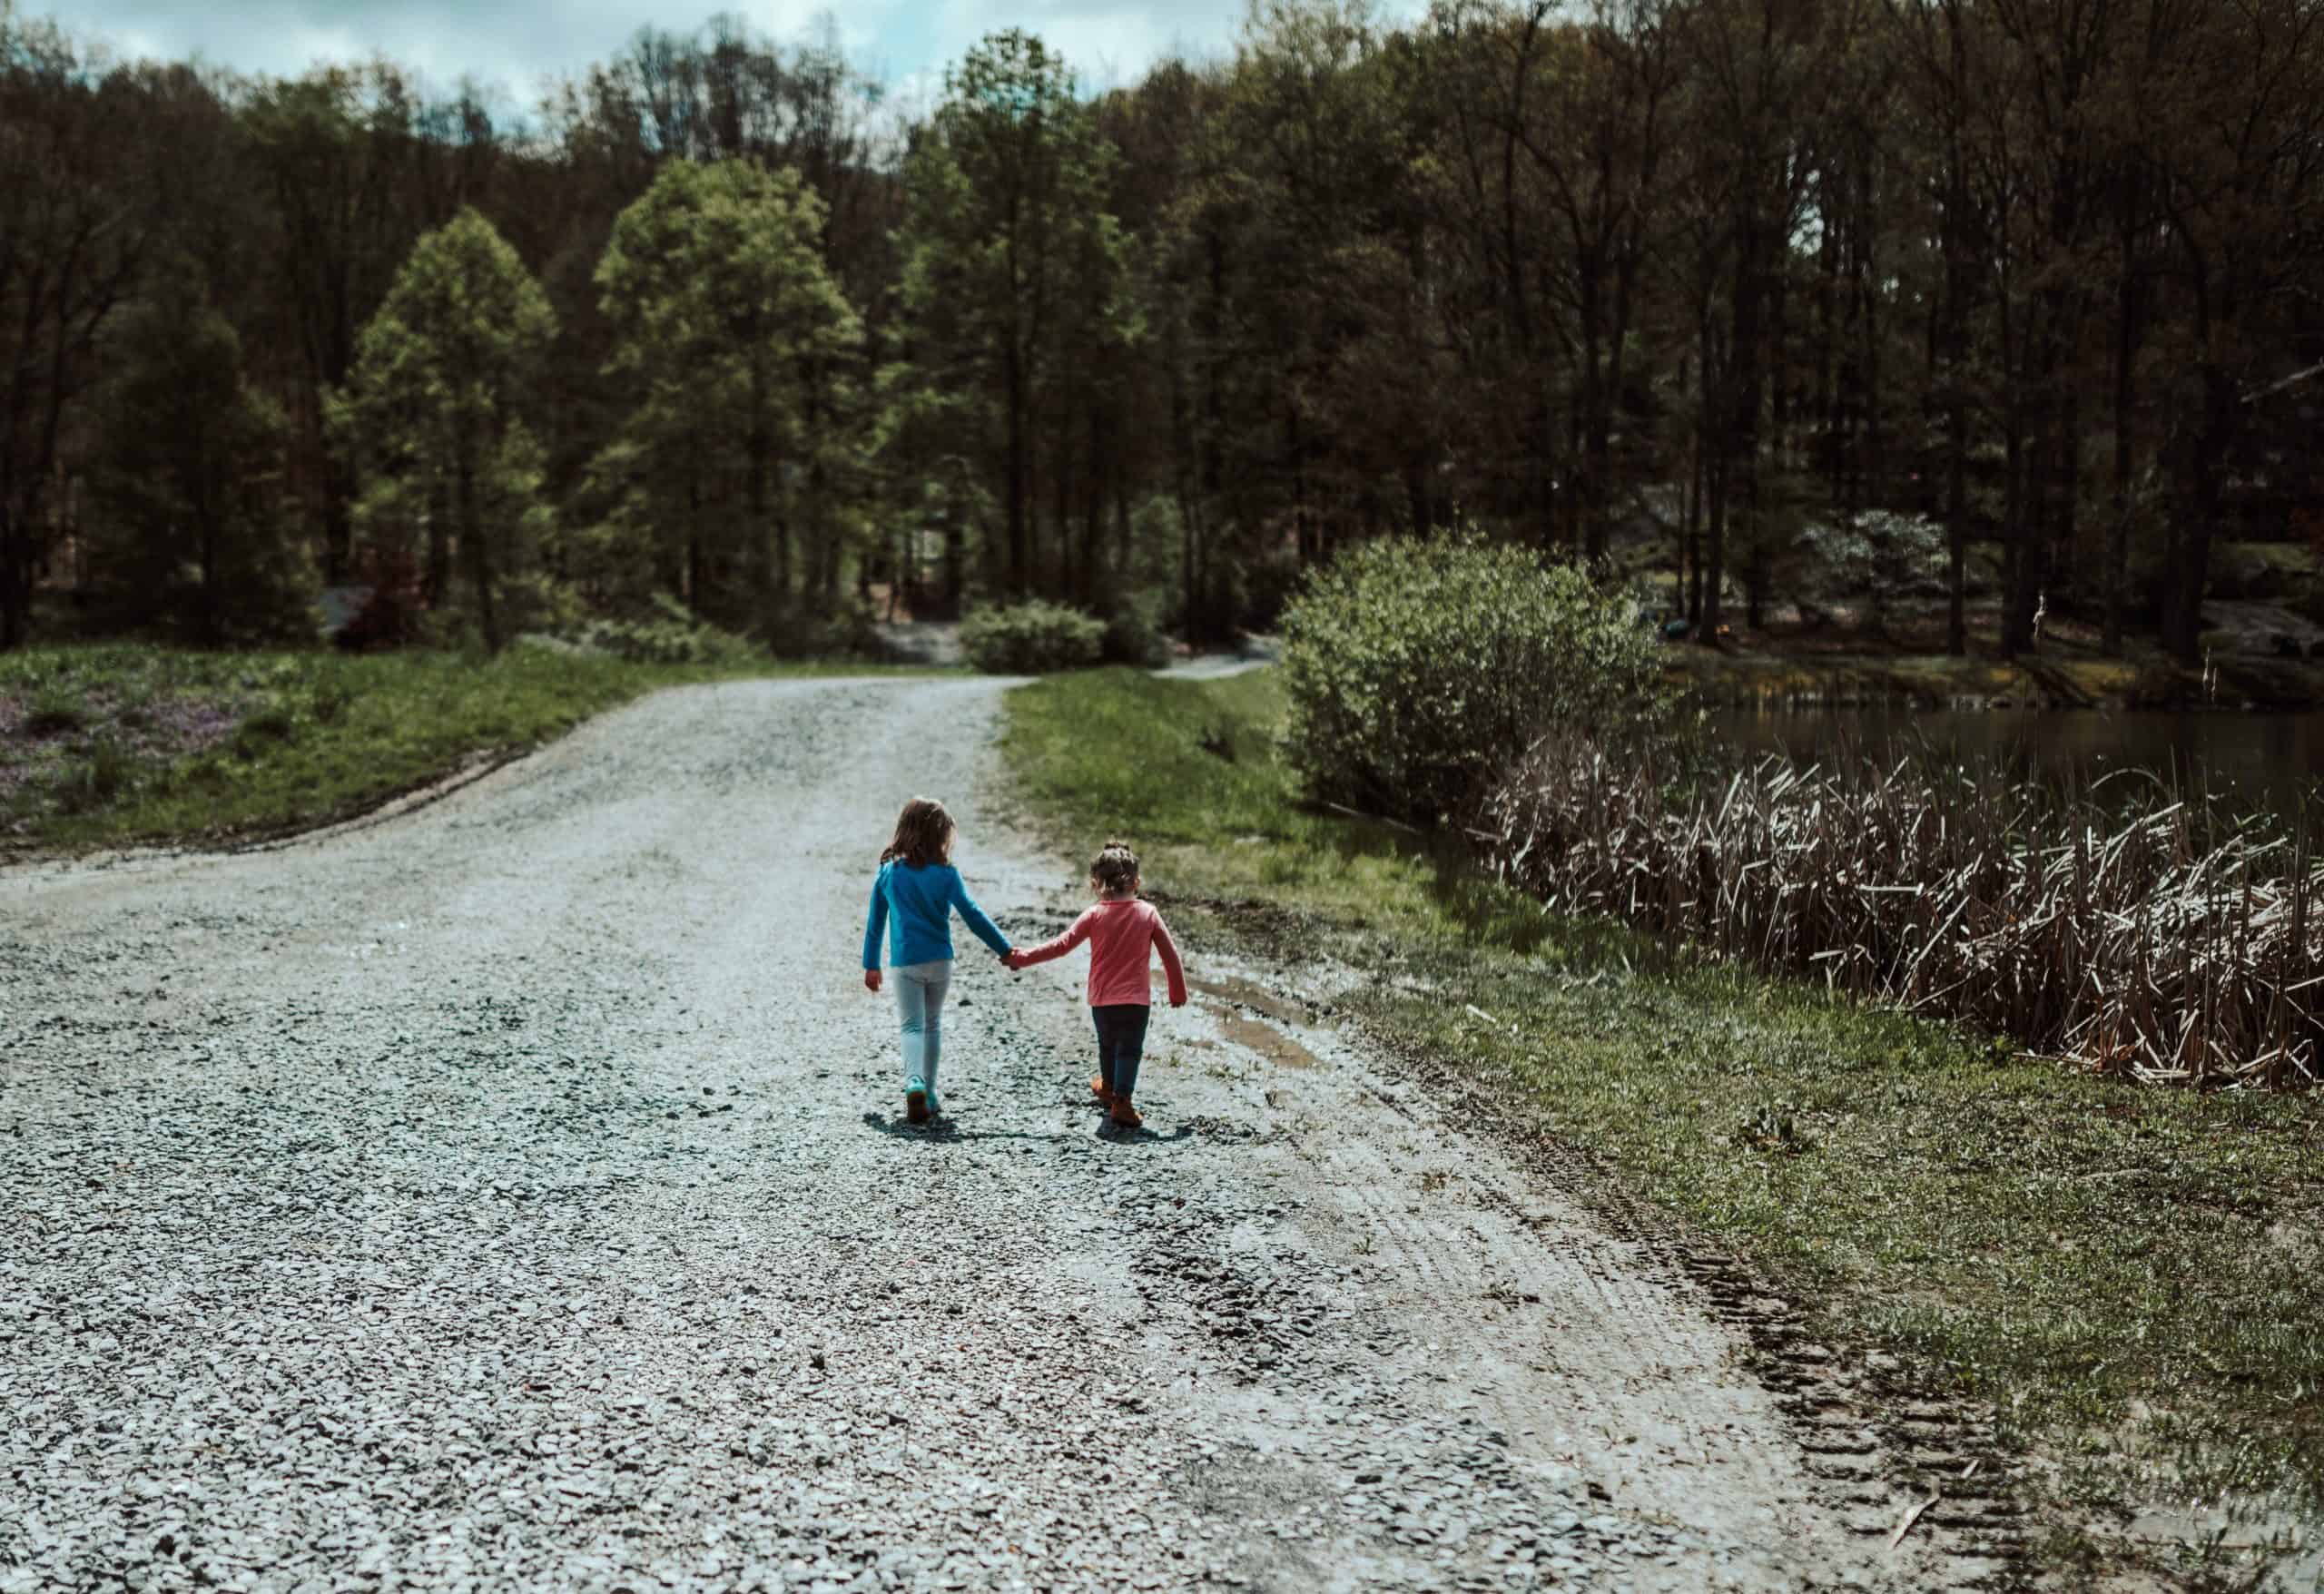
<svg viewBox="0 0 2324 1594"><path fill-rule="evenodd" d="M223 841L360 813L641 692L867 665L637 665L511 648L0 655L0 848Z"/></svg>

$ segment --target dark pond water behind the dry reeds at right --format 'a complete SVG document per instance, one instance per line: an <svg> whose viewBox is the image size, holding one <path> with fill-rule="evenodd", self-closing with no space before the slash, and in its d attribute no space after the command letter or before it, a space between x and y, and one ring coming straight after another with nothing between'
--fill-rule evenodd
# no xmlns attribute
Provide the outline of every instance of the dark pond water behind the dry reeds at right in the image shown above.
<svg viewBox="0 0 2324 1594"><path fill-rule="evenodd" d="M2096 709L1722 709L1710 727L1729 746L1799 760L1924 753L1971 767L1999 760L2017 774L2080 788L2145 771L2180 792L2210 792L2238 809L2308 813L2324 825L2324 713L2203 713ZM2126 790L2133 781L2110 781ZM2101 795L2103 790L2101 788Z"/></svg>

